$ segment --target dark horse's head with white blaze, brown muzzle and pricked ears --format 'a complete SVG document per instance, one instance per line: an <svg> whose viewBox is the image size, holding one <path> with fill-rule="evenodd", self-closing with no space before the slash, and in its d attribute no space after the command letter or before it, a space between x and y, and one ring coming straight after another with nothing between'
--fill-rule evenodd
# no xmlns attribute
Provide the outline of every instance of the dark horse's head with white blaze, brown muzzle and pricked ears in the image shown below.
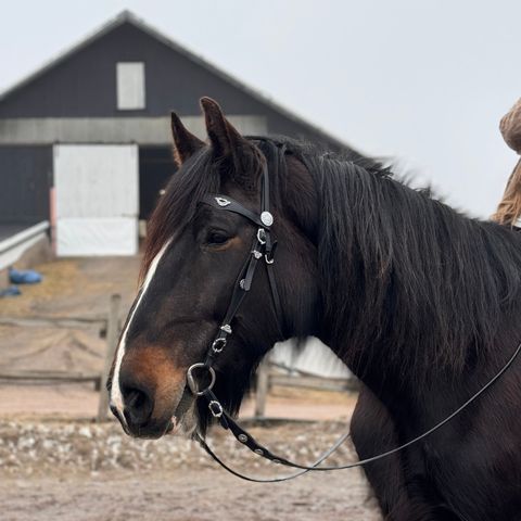
<svg viewBox="0 0 521 521"><path fill-rule="evenodd" d="M280 310L274 306L267 269L257 268L231 323L225 325L232 330L226 348L212 365L213 391L220 403L237 411L270 347L290 336L313 334L316 323L317 202L307 170L272 142L267 147L260 138L242 137L213 100L203 98L201 105L207 143L171 115L178 170L149 223L141 288L109 380L111 408L135 436L204 433L209 424L212 415L190 389L187 372L206 359L224 326L259 229L240 213L223 212L219 204L233 201L258 216L263 176L271 185L270 232L279 244L271 269ZM217 204L205 204L208 198ZM198 376L201 385L207 385L203 380L209 376Z"/></svg>

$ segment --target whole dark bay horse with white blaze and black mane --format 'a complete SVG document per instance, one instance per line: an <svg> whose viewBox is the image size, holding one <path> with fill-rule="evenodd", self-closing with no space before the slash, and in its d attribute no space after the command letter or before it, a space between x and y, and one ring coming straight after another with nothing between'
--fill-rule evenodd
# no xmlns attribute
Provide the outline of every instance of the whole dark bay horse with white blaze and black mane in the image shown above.
<svg viewBox="0 0 521 521"><path fill-rule="evenodd" d="M266 169L282 316L262 270L214 365L228 410L276 342L318 336L364 383L351 429L366 458L427 431L501 369L521 341L519 233L357 154L244 138L214 101L201 104L208 144L173 114L179 170L150 221L111 373L126 432L206 432L187 370L208 352L256 228L201 202L225 194L256 212ZM442 429L365 470L389 520L520 520L521 360Z"/></svg>

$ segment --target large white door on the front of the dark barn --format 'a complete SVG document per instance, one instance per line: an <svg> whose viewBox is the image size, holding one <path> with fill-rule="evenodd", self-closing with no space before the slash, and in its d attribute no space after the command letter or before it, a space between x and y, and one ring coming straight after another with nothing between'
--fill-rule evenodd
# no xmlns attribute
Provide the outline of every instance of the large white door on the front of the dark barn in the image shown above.
<svg viewBox="0 0 521 521"><path fill-rule="evenodd" d="M136 144L54 145L56 254L138 252Z"/></svg>

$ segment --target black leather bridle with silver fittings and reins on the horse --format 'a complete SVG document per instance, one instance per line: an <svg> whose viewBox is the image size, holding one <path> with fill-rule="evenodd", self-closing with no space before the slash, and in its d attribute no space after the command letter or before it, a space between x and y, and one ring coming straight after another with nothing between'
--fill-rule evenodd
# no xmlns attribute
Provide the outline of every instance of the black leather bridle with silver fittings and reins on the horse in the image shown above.
<svg viewBox="0 0 521 521"><path fill-rule="evenodd" d="M283 153L283 150L281 151L281 153ZM267 169L266 163L263 165L259 215L245 208L241 203L234 201L228 195L220 195L220 194L206 195L204 199L201 200L201 203L207 204L219 211L233 212L236 214L243 216L244 218L246 218L257 227L257 232L255 233L252 250L249 253L239 272L239 277L237 278L237 281L233 285L233 292L231 295L230 304L228 305L228 309L225 314L225 318L221 322L221 326L218 329L216 336L214 338L214 341L212 342L208 353L206 354L205 360L193 364L192 366L189 367L187 371L188 386L196 397L202 396L207 401L208 409L212 416L218 420L218 422L224 429L229 430L233 434L236 440L240 442L242 445L247 447L250 450L252 450L256 455L263 458L266 458L274 463L279 463L285 467L298 469L297 472L294 472L292 474L271 478L271 479L245 475L232 469L227 463L225 463L209 448L209 446L206 444L204 439L199 433L196 433L195 437L200 443L200 445L204 448L204 450L224 469L226 469L228 472L232 473L238 478L241 478L246 481L256 482L256 483L275 483L275 482L292 480L309 471L344 470L344 469L352 469L355 467L363 467L365 465L368 465L373 461L383 459L387 456L391 456L392 454L396 454L403 450L404 448L410 445L414 445L418 443L420 440L423 440L424 437L429 436L430 434L432 434L433 432L437 431L443 425L448 423L457 415L459 415L470 404L472 404L475 399L478 399L479 396L481 396L507 371L507 369L512 365L512 363L521 352L521 343L519 343L513 355L508 359L505 366L485 385L483 385L475 394L473 394L467 402L465 402L460 407L458 407L445 419L436 423L434 427L432 427L428 431L423 432L419 436L391 450L386 450L371 458L363 459L348 465L342 465L342 466L335 466L335 467L329 467L329 466L319 467L319 465L322 461L325 461L332 453L334 453L350 437L350 433L347 432L347 433L344 433L342 436L340 436L340 439L310 466L300 465L284 457L278 456L277 454L272 453L268 448L260 445L245 429L243 429L225 410L219 399L213 392L213 387L216 381L216 373L215 373L215 369L213 368L213 364L216 357L219 355L219 353L221 353L223 350L225 348L228 338L232 334L231 322L236 317L244 297L246 296L247 292L251 289L253 277L255 275L255 271L259 262L266 266L269 287L271 291L271 298L274 303L274 312L276 315L276 320L277 320L280 336L281 339L285 338L283 335L285 323L283 320L280 295L277 290L277 283L276 283L275 274L274 274L275 251L276 251L277 242L274 240L271 236L271 226L275 219L270 212L270 206L269 206L269 177L268 177L268 169ZM209 381L204 389L201 389L198 385L198 378L194 376L194 371L207 371L207 377L209 378Z"/></svg>

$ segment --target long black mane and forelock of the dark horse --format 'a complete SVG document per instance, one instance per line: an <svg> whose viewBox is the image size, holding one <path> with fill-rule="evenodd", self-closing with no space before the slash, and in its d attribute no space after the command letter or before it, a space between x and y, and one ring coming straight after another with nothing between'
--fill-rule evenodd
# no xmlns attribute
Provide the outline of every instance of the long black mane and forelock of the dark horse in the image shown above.
<svg viewBox="0 0 521 521"><path fill-rule="evenodd" d="M268 161L276 205L293 189L291 173L280 168L287 154L314 179L325 323L352 368L385 350L390 365L421 378L434 366L457 373L490 354L501 317L520 296L516 232L457 213L356 152L249 139ZM198 201L218 191L220 166L205 148L173 176L151 219L143 271Z"/></svg>

